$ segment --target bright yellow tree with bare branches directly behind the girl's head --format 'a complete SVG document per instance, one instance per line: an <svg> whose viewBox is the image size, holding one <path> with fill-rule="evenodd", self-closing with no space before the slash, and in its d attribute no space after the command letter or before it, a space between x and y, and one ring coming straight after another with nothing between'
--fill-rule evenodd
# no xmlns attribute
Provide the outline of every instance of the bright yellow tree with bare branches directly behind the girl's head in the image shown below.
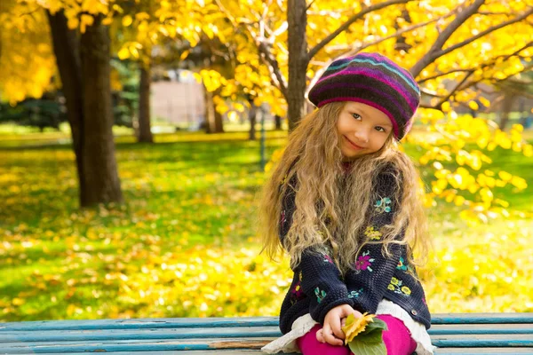
<svg viewBox="0 0 533 355"><path fill-rule="evenodd" d="M260 77L238 80L248 87L262 82L259 97L276 111L283 111L286 103L290 129L308 111L306 90L325 67L359 51L379 51L410 69L423 93L420 120L438 133L431 143L416 142L426 150L420 162L432 163L435 170L428 204L441 198L463 206L463 217L486 219L506 213L506 202L494 197L493 188L527 186L505 171L481 172L497 146L533 154L521 128L493 130L485 120L459 116L454 107L465 103L477 109L477 83L495 84L525 70L524 61L533 56L531 4L388 0L343 6L329 1L213 0L208 6L246 31L245 39L236 39L238 58L243 71L260 63ZM223 28L223 23L217 25ZM467 143L477 149L467 151ZM460 167L446 170L439 161L455 161Z"/></svg>

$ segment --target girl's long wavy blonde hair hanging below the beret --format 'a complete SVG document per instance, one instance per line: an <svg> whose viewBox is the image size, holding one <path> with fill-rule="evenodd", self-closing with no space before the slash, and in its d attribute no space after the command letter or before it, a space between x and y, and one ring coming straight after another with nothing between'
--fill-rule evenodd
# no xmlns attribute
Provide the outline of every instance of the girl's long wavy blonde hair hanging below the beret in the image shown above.
<svg viewBox="0 0 533 355"><path fill-rule="evenodd" d="M259 209L264 241L263 250L275 258L284 248L290 265L299 264L307 248L332 251L335 264L345 273L354 268L354 261L364 244L383 244L384 256L390 256L393 243L406 244L407 263L426 263L429 241L426 217L420 199L419 176L410 158L398 150L391 135L376 153L354 160L345 173L336 124L344 102L333 102L308 114L290 133L280 162L263 188ZM394 178L397 210L391 225L381 228L380 241L362 238L368 224L370 201L380 173ZM296 185L291 181L297 181ZM296 209L290 230L279 237L282 197L288 189L296 192ZM404 233L402 240L398 235ZM417 248L416 259L413 250Z"/></svg>

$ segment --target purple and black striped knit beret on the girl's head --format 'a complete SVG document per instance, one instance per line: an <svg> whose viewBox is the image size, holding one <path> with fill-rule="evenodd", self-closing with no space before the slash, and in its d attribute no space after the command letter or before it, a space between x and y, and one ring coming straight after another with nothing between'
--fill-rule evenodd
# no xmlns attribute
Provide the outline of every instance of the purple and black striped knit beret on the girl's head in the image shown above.
<svg viewBox="0 0 533 355"><path fill-rule="evenodd" d="M309 91L322 107L334 101L354 101L378 108L393 123L400 140L413 123L420 89L410 72L378 53L359 53L335 60Z"/></svg>

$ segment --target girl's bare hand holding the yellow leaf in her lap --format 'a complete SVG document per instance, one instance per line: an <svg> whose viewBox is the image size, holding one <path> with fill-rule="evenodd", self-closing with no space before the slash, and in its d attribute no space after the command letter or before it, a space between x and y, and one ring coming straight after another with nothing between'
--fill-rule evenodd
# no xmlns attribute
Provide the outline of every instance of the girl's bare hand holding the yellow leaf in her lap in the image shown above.
<svg viewBox="0 0 533 355"><path fill-rule="evenodd" d="M355 311L349 304L341 304L332 308L326 318L322 329L316 332L316 340L321 343L330 343L331 345L342 345L346 338L342 327L346 322L346 317L354 314L355 318L362 317L362 313Z"/></svg>

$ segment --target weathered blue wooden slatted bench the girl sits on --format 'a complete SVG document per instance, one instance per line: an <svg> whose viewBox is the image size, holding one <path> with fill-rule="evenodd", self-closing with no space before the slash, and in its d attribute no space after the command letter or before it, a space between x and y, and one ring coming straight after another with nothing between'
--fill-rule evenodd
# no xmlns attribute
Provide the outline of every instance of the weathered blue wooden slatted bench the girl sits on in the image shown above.
<svg viewBox="0 0 533 355"><path fill-rule="evenodd" d="M533 313L434 314L438 355L533 353ZM0 323L0 354L260 354L277 319L103 319Z"/></svg>

